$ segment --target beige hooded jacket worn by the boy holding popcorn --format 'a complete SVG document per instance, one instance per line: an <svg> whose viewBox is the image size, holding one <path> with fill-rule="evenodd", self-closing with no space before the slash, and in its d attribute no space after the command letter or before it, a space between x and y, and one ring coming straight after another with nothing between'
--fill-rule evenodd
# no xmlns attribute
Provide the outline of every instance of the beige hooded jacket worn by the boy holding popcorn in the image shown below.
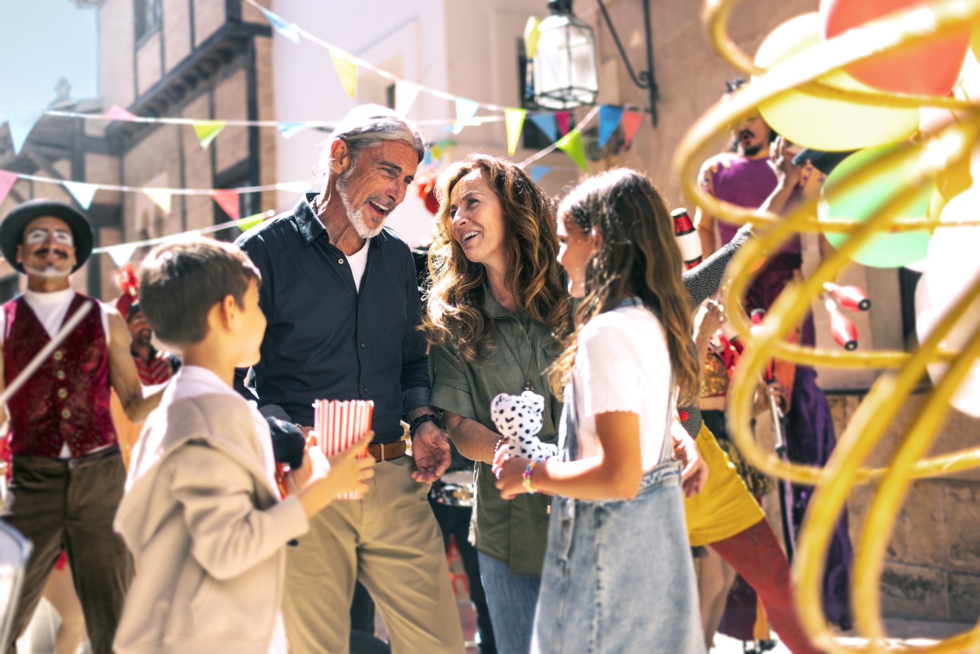
<svg viewBox="0 0 980 654"><path fill-rule="evenodd" d="M278 501L241 397L164 402L133 450L116 530L136 557L120 654L268 654L285 543L309 524Z"/></svg>

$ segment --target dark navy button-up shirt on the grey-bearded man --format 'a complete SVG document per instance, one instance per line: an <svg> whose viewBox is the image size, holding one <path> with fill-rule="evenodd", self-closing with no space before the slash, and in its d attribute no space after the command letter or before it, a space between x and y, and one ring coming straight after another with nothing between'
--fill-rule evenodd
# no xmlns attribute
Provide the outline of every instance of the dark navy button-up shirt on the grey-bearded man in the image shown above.
<svg viewBox="0 0 980 654"><path fill-rule="evenodd" d="M269 321L249 385L264 414L310 427L314 400L374 400L374 442L392 442L404 433L402 416L431 394L412 251L384 227L370 239L359 293L315 197L236 241L262 273L259 306ZM235 385L249 396L243 378Z"/></svg>

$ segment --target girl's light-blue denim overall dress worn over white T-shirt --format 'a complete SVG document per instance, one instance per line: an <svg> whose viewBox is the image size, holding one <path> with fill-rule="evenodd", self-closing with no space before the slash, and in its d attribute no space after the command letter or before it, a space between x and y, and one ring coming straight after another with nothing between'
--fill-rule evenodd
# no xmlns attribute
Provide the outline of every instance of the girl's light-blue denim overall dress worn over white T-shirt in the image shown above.
<svg viewBox="0 0 980 654"><path fill-rule="evenodd" d="M552 500L533 654L704 654L680 464L670 458L672 404L660 463L634 499ZM577 421L571 383L559 429L564 461L578 458Z"/></svg>

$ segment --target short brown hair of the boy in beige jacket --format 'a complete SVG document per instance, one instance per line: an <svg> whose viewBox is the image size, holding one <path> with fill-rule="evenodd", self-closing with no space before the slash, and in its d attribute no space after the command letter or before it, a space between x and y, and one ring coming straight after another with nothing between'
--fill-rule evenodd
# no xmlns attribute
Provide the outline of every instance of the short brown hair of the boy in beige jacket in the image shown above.
<svg viewBox="0 0 980 654"><path fill-rule="evenodd" d="M210 238L165 243L140 265L139 307L161 340L193 345L208 335L208 314L225 297L244 306L252 279L262 285L259 269L237 245Z"/></svg>

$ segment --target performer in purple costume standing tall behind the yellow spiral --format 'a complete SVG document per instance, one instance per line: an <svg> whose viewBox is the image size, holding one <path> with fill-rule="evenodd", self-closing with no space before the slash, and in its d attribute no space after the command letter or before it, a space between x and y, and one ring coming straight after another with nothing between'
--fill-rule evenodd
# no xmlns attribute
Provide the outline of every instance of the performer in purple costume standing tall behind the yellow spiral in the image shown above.
<svg viewBox="0 0 980 654"><path fill-rule="evenodd" d="M729 92L738 85L737 82L729 84ZM740 207L764 208L777 214L819 192L824 176L809 162L805 166L794 166L786 143L758 113L734 126L732 135L731 151L711 157L701 169L700 183L706 192ZM738 226L714 221L700 211L695 223L705 257L731 240L738 229ZM786 284L800 276L802 264L800 236L795 235L779 251L769 255L746 294L746 311L768 310ZM812 316L808 315L804 320L799 335L801 344L814 344ZM787 458L794 463L813 466L826 464L837 438L827 399L816 385L816 372L808 366L796 366L793 378L781 381L792 388L790 410L786 416ZM792 497L787 498L791 506L788 511L792 524L790 533L794 539L803 524L812 491L811 486L793 484ZM823 579L824 612L827 619L841 629L851 628L849 586L853 554L845 512L831 542Z"/></svg>

